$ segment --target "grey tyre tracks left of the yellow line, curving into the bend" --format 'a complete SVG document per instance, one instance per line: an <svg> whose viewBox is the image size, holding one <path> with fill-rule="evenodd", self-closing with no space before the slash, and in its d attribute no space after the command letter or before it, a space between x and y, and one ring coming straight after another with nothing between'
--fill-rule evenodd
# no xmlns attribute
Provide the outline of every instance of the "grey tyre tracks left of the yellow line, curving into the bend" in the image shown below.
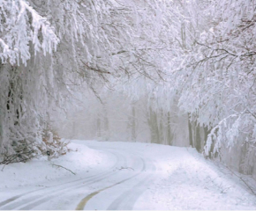
<svg viewBox="0 0 256 211"><path fill-rule="evenodd" d="M38 206L39 204L41 204L43 202L46 202L46 201L54 198L54 194L56 194L58 192L63 192L64 190L68 191L68 190L71 190L71 189L77 189L78 187L81 186L81 184L80 184L81 182L83 182L82 186L86 186L86 185L91 185L91 184L94 184L98 181L101 181L104 178L109 178L111 175L115 174L115 172L113 172L113 171L115 169L117 169L117 167L120 164L125 164L125 162L126 162L126 160L124 159L124 156L120 156L120 154L118 154L117 152L115 152L115 153L109 152L109 153L111 153L112 155L117 157L116 164L114 164L109 171L104 171L101 175L95 174L95 175L90 176L88 178L80 178L80 179L77 179L75 181L64 183L64 184L61 184L61 185L51 186L49 188L41 188L39 190L31 191L31 192L24 193L24 194L19 194L17 196L11 197L8 200L2 201L0 203L0 209L1 210L3 210L3 209L17 209L17 207L20 207L20 206L24 205L24 203L29 203L33 200L37 200L34 203L30 203L29 204L30 206L27 205L26 207L21 208L21 209L31 209L33 207ZM66 184L70 184L70 183L72 183L71 186L66 186ZM64 187L61 187L61 186L64 186ZM52 187L54 187L54 188L57 187L57 188L52 190ZM19 199L21 199L21 198L23 198L26 195L29 195L31 193L40 193L40 194L38 194L36 196L31 196L31 197L29 197L25 200L20 200L20 201L14 202L15 200L19 200ZM45 195L46 193L51 193L51 194L50 194L50 196L48 195L47 197L43 197L43 195ZM39 198L41 198L41 200L38 200Z"/></svg>

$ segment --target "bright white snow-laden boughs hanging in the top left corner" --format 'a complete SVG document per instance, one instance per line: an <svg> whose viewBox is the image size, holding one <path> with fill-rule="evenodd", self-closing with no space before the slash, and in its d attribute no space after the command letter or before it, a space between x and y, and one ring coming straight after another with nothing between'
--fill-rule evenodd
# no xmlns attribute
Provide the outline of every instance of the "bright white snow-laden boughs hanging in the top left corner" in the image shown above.
<svg viewBox="0 0 256 211"><path fill-rule="evenodd" d="M0 1L0 58L2 63L11 65L19 60L26 65L31 57L30 42L34 54L39 51L52 54L59 42L54 29L46 18L41 17L24 0Z"/></svg>

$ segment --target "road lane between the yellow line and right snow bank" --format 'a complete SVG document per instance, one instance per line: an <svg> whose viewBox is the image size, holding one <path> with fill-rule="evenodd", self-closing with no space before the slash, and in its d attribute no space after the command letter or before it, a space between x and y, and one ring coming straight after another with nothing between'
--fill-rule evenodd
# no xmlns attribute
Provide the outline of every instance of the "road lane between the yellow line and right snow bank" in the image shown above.
<svg viewBox="0 0 256 211"><path fill-rule="evenodd" d="M116 156L116 163L98 181L100 190L80 200L77 209L132 209L140 194L147 190L154 178L156 167L149 158L139 152L115 148L102 148Z"/></svg>

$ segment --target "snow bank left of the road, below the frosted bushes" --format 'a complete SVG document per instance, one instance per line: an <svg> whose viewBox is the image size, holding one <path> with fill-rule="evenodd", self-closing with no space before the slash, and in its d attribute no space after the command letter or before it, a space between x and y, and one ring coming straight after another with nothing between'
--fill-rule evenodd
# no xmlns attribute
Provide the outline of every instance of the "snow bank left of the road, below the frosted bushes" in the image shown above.
<svg viewBox="0 0 256 211"><path fill-rule="evenodd" d="M99 164L107 164L107 155L101 151L88 148L86 145L70 143L71 152L48 161L46 156L34 158L27 163L1 165L0 189L17 186L44 186L46 182L54 182L59 179L75 179L82 177L81 174L89 173ZM61 165L70 170L67 171ZM76 175L72 174L74 172Z"/></svg>

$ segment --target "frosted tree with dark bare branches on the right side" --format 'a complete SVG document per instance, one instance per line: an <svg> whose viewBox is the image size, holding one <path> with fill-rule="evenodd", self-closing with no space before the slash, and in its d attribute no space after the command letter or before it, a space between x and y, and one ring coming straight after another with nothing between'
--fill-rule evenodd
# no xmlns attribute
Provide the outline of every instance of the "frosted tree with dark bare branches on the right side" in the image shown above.
<svg viewBox="0 0 256 211"><path fill-rule="evenodd" d="M173 60L180 108L211 131L203 143L206 155L223 158L235 146L250 154L239 158L251 171L256 112L253 5L253 1L206 2L199 35L187 34L192 42ZM190 17L192 23L195 18Z"/></svg>

